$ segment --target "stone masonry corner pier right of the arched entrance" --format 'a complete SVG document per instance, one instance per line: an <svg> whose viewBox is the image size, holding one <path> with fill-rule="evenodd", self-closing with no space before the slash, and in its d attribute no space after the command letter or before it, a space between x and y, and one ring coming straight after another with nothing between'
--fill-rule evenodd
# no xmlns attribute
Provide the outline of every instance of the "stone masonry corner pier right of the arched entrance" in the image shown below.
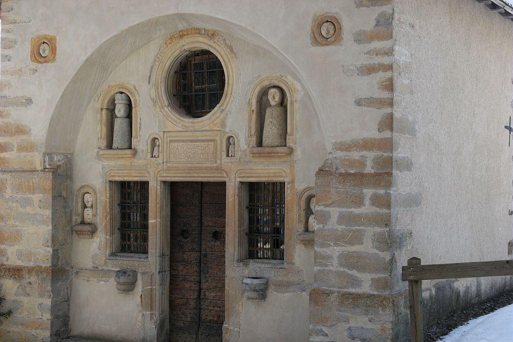
<svg viewBox="0 0 513 342"><path fill-rule="evenodd" d="M368 62L342 67L347 82L366 82L355 94L354 106L361 107L376 135L333 143L316 175L311 341L403 340L399 320L408 319L401 314L407 313L407 293L400 290L394 252L409 235L391 226L391 1L354 3L362 17L381 9L373 27L353 33L352 44L368 46L361 56Z"/></svg>

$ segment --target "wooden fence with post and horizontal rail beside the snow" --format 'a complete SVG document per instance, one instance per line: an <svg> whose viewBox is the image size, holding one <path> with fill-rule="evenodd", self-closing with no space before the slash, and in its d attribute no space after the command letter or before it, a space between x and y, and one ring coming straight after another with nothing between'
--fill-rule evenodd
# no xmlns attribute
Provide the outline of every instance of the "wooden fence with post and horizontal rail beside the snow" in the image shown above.
<svg viewBox="0 0 513 342"><path fill-rule="evenodd" d="M477 278L513 275L513 260L481 261L478 263L458 263L421 265L417 257L408 259L403 266L404 281L408 281L410 301L410 341L424 341L422 321L422 280L449 278Z"/></svg>

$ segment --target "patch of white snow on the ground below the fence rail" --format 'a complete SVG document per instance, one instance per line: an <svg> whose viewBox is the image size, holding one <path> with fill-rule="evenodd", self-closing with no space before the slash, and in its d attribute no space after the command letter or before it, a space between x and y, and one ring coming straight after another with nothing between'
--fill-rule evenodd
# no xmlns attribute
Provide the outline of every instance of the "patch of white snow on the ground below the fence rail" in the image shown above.
<svg viewBox="0 0 513 342"><path fill-rule="evenodd" d="M513 304L467 324L441 337L439 342L513 342Z"/></svg>

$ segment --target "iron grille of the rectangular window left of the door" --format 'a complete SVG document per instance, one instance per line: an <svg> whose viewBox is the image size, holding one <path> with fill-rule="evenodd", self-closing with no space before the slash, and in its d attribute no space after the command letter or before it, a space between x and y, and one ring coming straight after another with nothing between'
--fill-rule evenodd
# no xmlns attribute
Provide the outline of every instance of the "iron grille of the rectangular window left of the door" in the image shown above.
<svg viewBox="0 0 513 342"><path fill-rule="evenodd" d="M121 252L148 254L148 182L120 182Z"/></svg>

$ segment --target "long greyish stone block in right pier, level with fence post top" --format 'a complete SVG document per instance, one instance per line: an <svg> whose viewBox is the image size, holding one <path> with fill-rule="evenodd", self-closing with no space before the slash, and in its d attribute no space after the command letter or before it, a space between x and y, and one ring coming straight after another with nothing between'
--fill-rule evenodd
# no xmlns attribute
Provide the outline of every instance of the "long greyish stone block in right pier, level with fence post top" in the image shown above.
<svg viewBox="0 0 513 342"><path fill-rule="evenodd" d="M362 273L390 274L392 261L378 253L342 251L338 257L339 267Z"/></svg>

